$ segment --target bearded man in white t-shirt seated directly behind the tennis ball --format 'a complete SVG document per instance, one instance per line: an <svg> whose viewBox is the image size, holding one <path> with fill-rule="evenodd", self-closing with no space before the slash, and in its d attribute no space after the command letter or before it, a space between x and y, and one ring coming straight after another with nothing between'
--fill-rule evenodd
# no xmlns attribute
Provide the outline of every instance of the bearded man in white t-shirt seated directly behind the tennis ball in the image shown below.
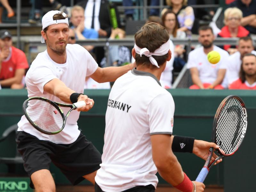
<svg viewBox="0 0 256 192"><path fill-rule="evenodd" d="M190 89L224 89L222 84L226 69L228 52L220 47L213 45L215 39L212 28L201 26L199 28L198 41L203 45L191 51L188 54L188 65L190 69L193 85ZM207 54L211 51L220 53L220 61L217 64L211 64L207 60Z"/></svg>

